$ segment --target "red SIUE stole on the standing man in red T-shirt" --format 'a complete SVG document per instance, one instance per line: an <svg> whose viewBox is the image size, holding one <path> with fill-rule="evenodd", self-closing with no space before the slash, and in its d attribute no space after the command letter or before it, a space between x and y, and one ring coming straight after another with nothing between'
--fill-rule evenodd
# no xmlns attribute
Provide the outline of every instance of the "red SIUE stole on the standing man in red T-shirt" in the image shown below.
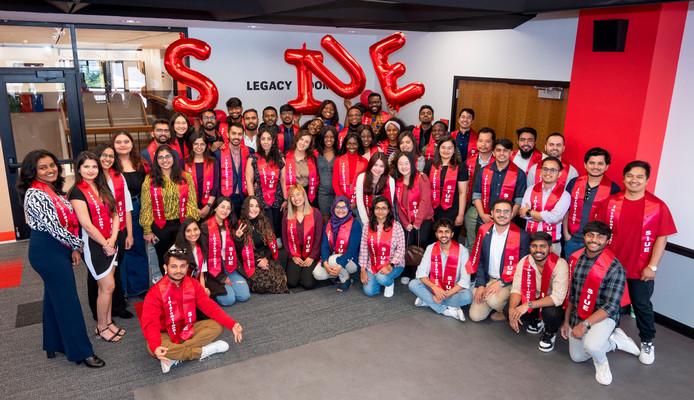
<svg viewBox="0 0 694 400"><path fill-rule="evenodd" d="M639 258L643 265L647 265L651 259L651 249L656 240L656 233L660 224L660 201L651 192L646 191L643 224L641 225L641 250ZM619 234L619 217L624 204L624 191L621 191L607 199L607 224L612 229L612 238L608 247L612 248L615 237Z"/></svg>

